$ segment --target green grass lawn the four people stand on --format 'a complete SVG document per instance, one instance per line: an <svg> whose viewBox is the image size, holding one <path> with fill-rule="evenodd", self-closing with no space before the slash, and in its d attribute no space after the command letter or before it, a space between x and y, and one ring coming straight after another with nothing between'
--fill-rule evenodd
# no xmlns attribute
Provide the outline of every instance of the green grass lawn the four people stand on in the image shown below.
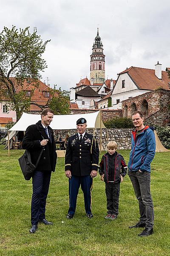
<svg viewBox="0 0 170 256"><path fill-rule="evenodd" d="M120 151L128 161L129 151ZM92 212L85 216L83 194L79 190L74 218L68 211L68 179L64 158L58 158L47 198L46 218L53 226L38 225L29 234L31 180L20 171L18 158L23 150L0 148L0 256L161 256L170 255L170 152L156 153L152 162L151 192L155 207L152 236L138 237L142 229L128 229L139 218L138 202L129 177L121 184L119 216L105 220L105 183L94 178Z"/></svg>

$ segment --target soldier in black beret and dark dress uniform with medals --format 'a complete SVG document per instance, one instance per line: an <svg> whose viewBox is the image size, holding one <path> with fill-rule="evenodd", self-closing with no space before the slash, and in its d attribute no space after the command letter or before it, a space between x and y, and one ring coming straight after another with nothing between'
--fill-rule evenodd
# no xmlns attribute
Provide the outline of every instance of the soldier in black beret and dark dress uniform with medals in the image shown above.
<svg viewBox="0 0 170 256"><path fill-rule="evenodd" d="M77 195L81 185L84 194L85 212L91 213L91 189L93 178L97 175L99 147L96 138L88 134L85 118L77 120L78 133L69 137L65 153L65 175L69 178L69 209L66 218L73 218L76 210Z"/></svg>

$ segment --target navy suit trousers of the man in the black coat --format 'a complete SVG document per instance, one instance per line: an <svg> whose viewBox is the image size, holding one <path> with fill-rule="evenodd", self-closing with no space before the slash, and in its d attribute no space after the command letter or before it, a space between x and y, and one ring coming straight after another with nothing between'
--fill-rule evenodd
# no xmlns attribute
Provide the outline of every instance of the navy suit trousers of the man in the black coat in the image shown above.
<svg viewBox="0 0 170 256"><path fill-rule="evenodd" d="M51 172L36 171L32 177L31 225L45 218L45 205L50 185Z"/></svg>

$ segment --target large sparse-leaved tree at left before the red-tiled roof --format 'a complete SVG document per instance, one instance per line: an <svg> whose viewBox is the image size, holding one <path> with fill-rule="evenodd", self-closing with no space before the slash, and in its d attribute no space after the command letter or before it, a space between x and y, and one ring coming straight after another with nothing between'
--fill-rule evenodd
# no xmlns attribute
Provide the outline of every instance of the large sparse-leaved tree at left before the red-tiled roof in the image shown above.
<svg viewBox="0 0 170 256"><path fill-rule="evenodd" d="M6 99L8 108L16 111L17 120L30 107L34 93L32 90L26 97L23 81L31 80L38 87L40 72L47 67L42 54L48 42L43 43L37 31L31 34L29 27L19 31L15 26L4 27L0 33L0 100Z"/></svg>

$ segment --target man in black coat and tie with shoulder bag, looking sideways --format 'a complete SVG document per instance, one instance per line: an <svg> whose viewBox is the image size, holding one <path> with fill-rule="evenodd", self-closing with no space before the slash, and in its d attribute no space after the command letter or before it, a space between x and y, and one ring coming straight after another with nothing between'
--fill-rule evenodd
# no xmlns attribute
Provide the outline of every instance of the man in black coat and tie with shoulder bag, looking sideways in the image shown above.
<svg viewBox="0 0 170 256"><path fill-rule="evenodd" d="M45 225L52 225L45 219L45 205L50 185L51 172L55 171L57 163L56 144L53 130L49 127L54 112L46 108L42 111L41 120L35 125L30 125L26 129L22 147L31 154L31 162L35 165L40 152L38 166L32 177L33 194L31 200L31 229L30 233L35 233L38 222Z"/></svg>

